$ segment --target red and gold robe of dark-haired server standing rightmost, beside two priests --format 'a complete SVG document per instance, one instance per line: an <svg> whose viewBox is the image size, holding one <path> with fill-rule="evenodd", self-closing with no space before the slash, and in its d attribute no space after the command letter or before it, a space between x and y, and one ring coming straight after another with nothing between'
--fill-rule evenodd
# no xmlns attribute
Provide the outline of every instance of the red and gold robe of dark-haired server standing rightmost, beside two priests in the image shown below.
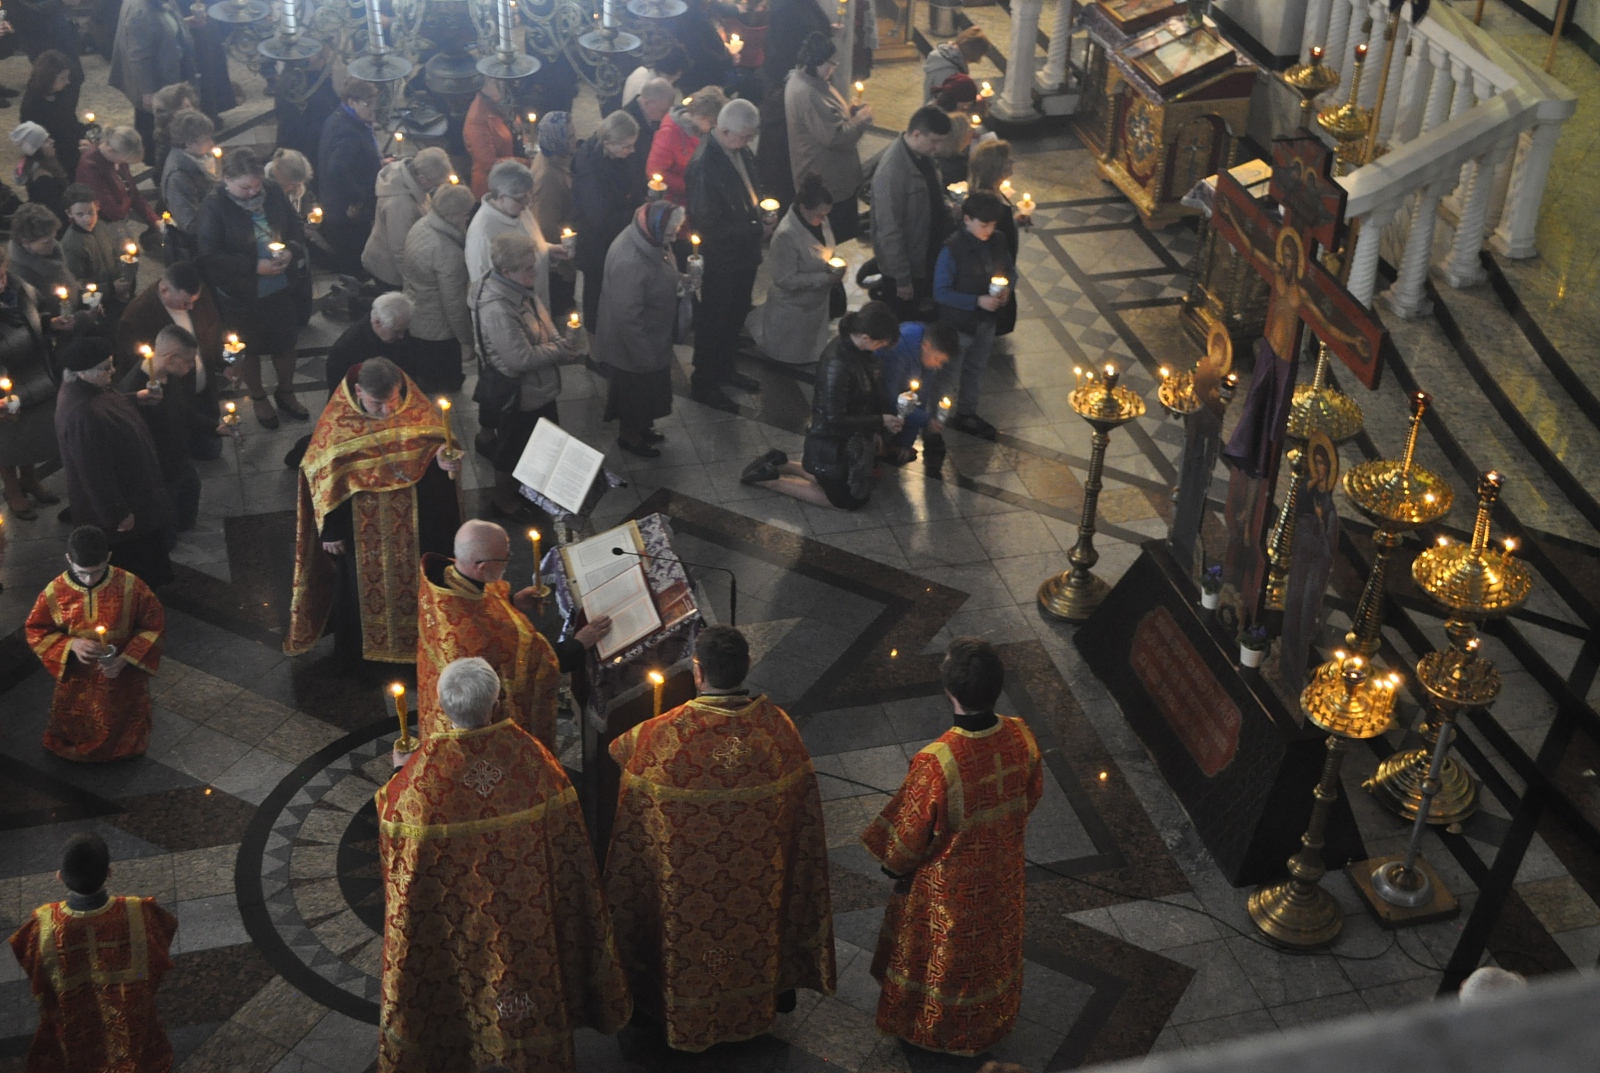
<svg viewBox="0 0 1600 1073"><path fill-rule="evenodd" d="M910 761L904 785L861 841L896 875L872 975L878 1031L918 1047L978 1054L1022 1001L1022 835L1045 792L1022 720L950 728Z"/></svg>

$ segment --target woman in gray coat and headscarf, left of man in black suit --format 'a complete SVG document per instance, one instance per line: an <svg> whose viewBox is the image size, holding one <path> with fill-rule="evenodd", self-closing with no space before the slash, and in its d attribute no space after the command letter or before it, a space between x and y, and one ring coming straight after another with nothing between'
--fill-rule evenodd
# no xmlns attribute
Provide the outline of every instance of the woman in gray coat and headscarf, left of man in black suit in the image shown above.
<svg viewBox="0 0 1600 1073"><path fill-rule="evenodd" d="M683 209L646 201L611 243L605 294L595 326L595 360L610 373L605 419L616 419L616 445L646 459L664 440L651 425L672 413L672 334L685 281L672 256Z"/></svg>

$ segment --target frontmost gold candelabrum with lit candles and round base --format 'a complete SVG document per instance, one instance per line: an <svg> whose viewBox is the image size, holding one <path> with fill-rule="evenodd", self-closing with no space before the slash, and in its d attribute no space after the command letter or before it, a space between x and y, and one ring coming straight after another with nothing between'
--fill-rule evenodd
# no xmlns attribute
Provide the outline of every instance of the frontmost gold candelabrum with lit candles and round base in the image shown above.
<svg viewBox="0 0 1600 1073"><path fill-rule="evenodd" d="M1328 814L1339 798L1339 768L1349 744L1389 731L1398 688L1400 675L1374 675L1360 656L1336 652L1315 670L1310 684L1301 692L1301 712L1328 732L1328 756L1317 780L1301 849L1288 862L1290 878L1256 889L1245 907L1256 927L1277 943L1323 947L1344 929L1344 910L1322 888L1322 878L1328 873L1322 859Z"/></svg>

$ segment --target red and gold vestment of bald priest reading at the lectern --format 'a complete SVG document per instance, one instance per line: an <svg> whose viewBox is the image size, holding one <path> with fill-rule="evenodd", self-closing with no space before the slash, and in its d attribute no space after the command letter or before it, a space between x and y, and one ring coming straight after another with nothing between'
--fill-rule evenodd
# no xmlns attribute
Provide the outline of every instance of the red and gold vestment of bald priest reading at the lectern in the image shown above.
<svg viewBox="0 0 1600 1073"><path fill-rule="evenodd" d="M482 656L504 686L501 718L554 752L562 668L550 643L512 606L510 584L494 580L480 587L443 556L426 555L416 603L416 718L422 737L453 729L438 707L438 672L458 659Z"/></svg>

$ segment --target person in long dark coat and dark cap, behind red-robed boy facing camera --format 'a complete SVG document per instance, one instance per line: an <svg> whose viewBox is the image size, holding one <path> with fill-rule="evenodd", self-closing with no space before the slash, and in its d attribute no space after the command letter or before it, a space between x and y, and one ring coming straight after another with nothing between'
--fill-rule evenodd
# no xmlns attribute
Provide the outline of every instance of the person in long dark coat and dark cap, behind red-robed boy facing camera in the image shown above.
<svg viewBox="0 0 1600 1073"><path fill-rule="evenodd" d="M173 507L150 430L112 387L109 341L74 339L59 365L56 441L72 520L99 526L117 566L160 588L173 579Z"/></svg>

